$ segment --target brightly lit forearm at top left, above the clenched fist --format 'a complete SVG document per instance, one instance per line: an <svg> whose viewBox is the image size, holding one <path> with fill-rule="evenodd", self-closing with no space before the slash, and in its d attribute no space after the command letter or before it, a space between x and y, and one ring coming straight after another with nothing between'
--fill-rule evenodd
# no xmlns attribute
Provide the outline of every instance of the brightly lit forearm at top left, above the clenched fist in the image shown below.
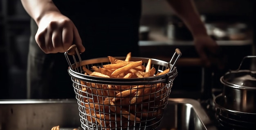
<svg viewBox="0 0 256 130"><path fill-rule="evenodd" d="M49 12L60 12L52 0L21 0L24 9L38 24Z"/></svg>

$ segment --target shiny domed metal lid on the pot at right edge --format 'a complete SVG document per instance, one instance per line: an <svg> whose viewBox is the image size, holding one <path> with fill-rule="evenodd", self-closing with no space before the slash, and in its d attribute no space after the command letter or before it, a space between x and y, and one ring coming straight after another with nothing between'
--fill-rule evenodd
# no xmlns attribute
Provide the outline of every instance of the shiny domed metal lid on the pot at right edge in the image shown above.
<svg viewBox="0 0 256 130"><path fill-rule="evenodd" d="M227 72L222 81L235 86L256 89L256 72L250 70L239 70Z"/></svg>

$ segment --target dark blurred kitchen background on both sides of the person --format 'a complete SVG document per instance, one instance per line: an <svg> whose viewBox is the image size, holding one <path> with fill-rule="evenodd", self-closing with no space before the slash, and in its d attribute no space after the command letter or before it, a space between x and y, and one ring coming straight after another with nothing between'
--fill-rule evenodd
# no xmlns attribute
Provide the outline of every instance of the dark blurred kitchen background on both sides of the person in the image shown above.
<svg viewBox="0 0 256 130"><path fill-rule="evenodd" d="M208 34L227 56L225 69L220 70L195 63L198 55L191 34L165 0L142 0L141 56L169 61L175 48L182 51L170 97L208 98L222 88L220 76L237 69L244 56L255 55L253 1L195 0ZM0 0L0 99L26 98L29 21L20 0ZM255 67L246 62L243 67Z"/></svg>

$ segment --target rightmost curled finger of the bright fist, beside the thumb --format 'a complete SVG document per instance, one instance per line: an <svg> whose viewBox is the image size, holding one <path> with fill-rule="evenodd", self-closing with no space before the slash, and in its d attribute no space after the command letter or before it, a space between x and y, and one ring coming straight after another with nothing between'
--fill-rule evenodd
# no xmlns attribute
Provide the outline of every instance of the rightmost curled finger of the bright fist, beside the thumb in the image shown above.
<svg viewBox="0 0 256 130"><path fill-rule="evenodd" d="M67 51L68 48L72 45L73 41L73 31L72 28L65 26L62 30L62 41L63 41L63 49Z"/></svg>

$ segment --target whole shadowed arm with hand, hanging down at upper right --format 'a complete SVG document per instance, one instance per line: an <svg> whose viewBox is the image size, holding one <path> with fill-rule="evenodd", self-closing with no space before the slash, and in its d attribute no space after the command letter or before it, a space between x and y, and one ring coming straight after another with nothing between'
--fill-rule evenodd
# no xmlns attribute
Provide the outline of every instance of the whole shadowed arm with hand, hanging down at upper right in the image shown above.
<svg viewBox="0 0 256 130"><path fill-rule="evenodd" d="M207 35L204 23L200 20L200 15L195 8L193 0L167 0L174 13L186 24L193 35L195 49L197 50L202 62L206 66L218 64L219 68L223 68L220 63L214 63L214 58L218 56L218 44Z"/></svg>

